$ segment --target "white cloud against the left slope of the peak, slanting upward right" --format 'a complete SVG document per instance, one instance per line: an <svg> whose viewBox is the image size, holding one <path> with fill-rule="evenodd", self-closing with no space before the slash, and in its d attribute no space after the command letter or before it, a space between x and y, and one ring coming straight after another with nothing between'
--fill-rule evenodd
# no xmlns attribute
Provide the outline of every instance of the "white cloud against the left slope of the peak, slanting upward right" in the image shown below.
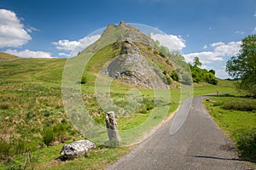
<svg viewBox="0 0 256 170"><path fill-rule="evenodd" d="M84 37L82 39L79 39L78 41L69 41L69 40L59 40L58 42L52 42L59 50L64 50L64 51L76 51L79 52L83 50L84 48L87 48L92 44L93 42L96 42L101 37L101 35L94 35L90 37ZM72 53L74 54L74 53ZM65 53L59 53L61 56L71 56L72 54L65 54Z"/></svg>

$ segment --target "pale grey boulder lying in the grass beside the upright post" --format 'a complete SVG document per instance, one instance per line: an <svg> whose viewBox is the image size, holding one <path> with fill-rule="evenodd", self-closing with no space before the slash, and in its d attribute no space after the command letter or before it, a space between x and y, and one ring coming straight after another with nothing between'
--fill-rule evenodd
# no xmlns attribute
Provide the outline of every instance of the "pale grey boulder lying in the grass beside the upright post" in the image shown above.
<svg viewBox="0 0 256 170"><path fill-rule="evenodd" d="M73 159L76 157L84 156L90 149L95 149L96 144L89 140L78 140L70 144L64 144L60 154L65 159Z"/></svg>

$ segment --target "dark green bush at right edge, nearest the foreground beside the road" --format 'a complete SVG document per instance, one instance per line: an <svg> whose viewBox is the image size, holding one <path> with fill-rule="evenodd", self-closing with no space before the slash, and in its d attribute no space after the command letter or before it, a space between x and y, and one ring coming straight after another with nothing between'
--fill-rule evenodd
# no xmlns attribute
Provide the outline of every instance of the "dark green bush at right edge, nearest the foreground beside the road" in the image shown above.
<svg viewBox="0 0 256 170"><path fill-rule="evenodd" d="M241 134L236 144L241 156L256 161L256 128Z"/></svg>

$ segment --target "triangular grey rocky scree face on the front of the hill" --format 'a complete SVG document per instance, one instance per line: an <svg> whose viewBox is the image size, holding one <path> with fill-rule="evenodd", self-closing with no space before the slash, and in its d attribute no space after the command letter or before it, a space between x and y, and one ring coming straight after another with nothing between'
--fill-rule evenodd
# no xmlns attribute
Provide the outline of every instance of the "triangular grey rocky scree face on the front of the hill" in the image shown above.
<svg viewBox="0 0 256 170"><path fill-rule="evenodd" d="M168 88L162 73L141 54L131 38L126 38L119 56L109 63L107 69L103 68L102 73L144 88Z"/></svg>

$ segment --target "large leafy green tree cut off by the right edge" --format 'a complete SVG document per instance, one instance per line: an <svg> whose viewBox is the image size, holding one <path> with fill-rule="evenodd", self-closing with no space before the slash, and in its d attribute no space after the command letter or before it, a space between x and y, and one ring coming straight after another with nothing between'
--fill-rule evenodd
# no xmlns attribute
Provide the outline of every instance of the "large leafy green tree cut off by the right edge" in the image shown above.
<svg viewBox="0 0 256 170"><path fill-rule="evenodd" d="M240 88L247 89L256 96L256 34L242 39L241 50L226 64L231 77L240 78Z"/></svg>

